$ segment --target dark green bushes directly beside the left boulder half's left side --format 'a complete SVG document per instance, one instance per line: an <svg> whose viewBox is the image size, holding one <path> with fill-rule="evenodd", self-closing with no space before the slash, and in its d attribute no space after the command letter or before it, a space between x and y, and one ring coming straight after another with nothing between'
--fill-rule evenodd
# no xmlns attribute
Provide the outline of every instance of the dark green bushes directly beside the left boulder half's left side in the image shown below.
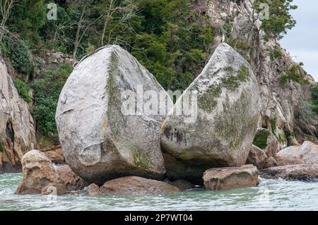
<svg viewBox="0 0 318 225"><path fill-rule="evenodd" d="M72 70L71 64L68 63L59 67L49 66L42 78L35 80L31 85L37 103L33 110L33 116L37 121L37 129L42 132L42 135L57 135L57 126L54 119L57 102L61 89Z"/></svg>

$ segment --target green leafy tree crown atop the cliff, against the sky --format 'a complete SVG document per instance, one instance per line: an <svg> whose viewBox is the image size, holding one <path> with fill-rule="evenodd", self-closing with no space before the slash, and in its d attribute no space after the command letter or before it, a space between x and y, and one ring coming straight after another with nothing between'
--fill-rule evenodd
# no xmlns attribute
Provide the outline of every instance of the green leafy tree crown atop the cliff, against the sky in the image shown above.
<svg viewBox="0 0 318 225"><path fill-rule="evenodd" d="M297 6L292 5L293 0L257 0L254 1L254 8L260 12L260 4L269 4L269 20L262 20L261 29L267 34L273 34L278 38L282 38L296 25L290 10L294 10Z"/></svg>

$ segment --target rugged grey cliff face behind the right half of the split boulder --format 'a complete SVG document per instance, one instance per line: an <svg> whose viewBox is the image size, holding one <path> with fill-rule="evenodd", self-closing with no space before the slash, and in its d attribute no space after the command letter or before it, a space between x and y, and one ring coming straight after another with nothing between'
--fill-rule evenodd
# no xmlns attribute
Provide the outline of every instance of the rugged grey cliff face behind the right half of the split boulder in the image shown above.
<svg viewBox="0 0 318 225"><path fill-rule="evenodd" d="M304 140L317 142L317 118L310 119L306 114L306 102L310 102L310 85L314 79L300 68L300 73L309 83L283 83L281 75L295 62L275 37L259 30L261 21L254 22L252 1L199 0L196 10L205 13L209 23L218 28L215 46L225 39L222 32L225 23L231 25L230 38L226 38L225 42L249 61L257 75L261 90L259 126L273 130L281 147L296 145ZM271 57L273 51L279 51L280 56Z"/></svg>

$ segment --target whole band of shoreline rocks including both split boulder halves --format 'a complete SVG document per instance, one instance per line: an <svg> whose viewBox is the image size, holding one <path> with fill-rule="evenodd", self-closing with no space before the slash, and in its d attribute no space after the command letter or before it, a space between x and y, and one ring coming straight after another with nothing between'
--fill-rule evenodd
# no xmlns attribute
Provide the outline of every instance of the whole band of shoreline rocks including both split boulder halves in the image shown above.
<svg viewBox="0 0 318 225"><path fill-rule="evenodd" d="M318 178L318 145L305 141L284 148L270 130L257 129L256 78L228 44L220 44L173 107L164 92L162 115L123 113L126 99L121 93L126 88L138 92L140 85L155 95L163 91L118 46L98 49L79 62L57 108L63 154L24 154L23 181L16 194L165 195L197 185L206 190L258 186L259 174ZM198 96L197 118L187 121L189 117L174 112L192 91ZM67 165L52 163L64 160Z"/></svg>

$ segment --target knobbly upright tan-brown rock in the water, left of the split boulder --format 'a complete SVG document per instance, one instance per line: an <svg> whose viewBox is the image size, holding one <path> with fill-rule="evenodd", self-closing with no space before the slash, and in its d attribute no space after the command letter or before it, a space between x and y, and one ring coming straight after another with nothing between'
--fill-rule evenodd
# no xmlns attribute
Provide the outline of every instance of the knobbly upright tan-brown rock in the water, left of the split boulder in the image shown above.
<svg viewBox="0 0 318 225"><path fill-rule="evenodd" d="M38 150L32 150L23 155L22 166L23 180L20 182L16 194L40 194L42 188L47 187L50 183L61 183L52 162ZM47 192L47 189L44 191Z"/></svg>

